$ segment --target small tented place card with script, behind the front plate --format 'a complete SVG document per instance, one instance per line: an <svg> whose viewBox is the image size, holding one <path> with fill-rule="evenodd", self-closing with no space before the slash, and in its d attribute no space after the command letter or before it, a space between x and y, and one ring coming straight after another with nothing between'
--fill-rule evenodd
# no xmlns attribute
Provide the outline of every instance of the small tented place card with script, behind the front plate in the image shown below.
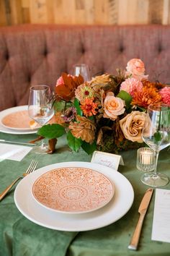
<svg viewBox="0 0 170 256"><path fill-rule="evenodd" d="M124 162L122 160L121 155L115 155L102 151L94 151L91 158L91 162L102 164L103 166L113 168L116 171L119 167L119 164L124 166Z"/></svg>

